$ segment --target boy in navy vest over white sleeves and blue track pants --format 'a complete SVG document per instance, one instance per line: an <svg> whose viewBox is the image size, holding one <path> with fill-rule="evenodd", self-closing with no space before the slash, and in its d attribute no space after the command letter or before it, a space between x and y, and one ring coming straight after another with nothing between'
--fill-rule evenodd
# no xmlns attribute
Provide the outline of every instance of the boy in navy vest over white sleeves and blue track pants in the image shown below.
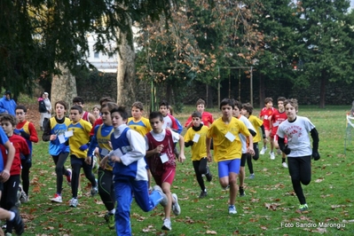
<svg viewBox="0 0 354 236"><path fill-rule="evenodd" d="M153 187L149 194L147 189L145 140L138 132L127 125L128 113L120 106L111 110L114 132L111 143L114 151L102 160L114 161L114 193L117 201L115 211L115 230L117 235L131 235L130 205L132 193L135 201L144 211L150 211L161 201L167 201L159 186Z"/></svg>

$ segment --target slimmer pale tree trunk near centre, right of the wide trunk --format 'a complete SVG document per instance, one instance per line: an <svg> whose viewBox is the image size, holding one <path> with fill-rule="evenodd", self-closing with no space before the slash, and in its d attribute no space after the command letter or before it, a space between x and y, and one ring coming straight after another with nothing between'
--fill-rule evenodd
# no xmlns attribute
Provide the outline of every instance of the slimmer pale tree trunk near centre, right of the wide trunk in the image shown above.
<svg viewBox="0 0 354 236"><path fill-rule="evenodd" d="M136 101L138 89L135 82L135 52L133 42L129 42L127 33L122 33L121 30L118 32L121 43L118 45L117 104L130 107Z"/></svg>

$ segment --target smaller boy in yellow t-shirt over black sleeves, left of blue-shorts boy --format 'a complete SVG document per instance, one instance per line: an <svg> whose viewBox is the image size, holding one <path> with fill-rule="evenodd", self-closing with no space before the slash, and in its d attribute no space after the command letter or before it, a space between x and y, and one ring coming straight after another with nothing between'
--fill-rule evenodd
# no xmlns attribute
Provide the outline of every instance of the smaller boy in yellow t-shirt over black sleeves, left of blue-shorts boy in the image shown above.
<svg viewBox="0 0 354 236"><path fill-rule="evenodd" d="M208 127L201 123L200 112L193 112L192 122L193 126L185 133L185 147L192 146L193 169L195 172L195 177L197 177L198 184L201 187L201 194L199 195L199 198L201 199L207 196L207 188L204 185L202 175L207 177L208 182L212 179L212 175L207 164L206 138Z"/></svg>

